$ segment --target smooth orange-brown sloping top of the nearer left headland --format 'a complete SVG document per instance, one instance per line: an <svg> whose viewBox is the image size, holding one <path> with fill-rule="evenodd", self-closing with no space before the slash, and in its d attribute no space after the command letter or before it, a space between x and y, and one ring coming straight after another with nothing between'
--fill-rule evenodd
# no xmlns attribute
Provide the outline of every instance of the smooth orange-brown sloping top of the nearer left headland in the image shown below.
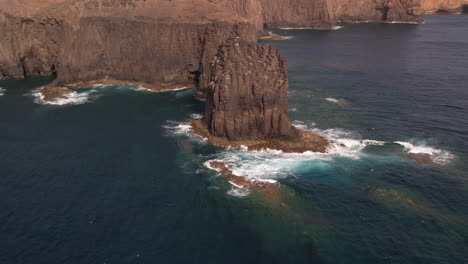
<svg viewBox="0 0 468 264"><path fill-rule="evenodd" d="M0 0L0 11L38 19L59 18L72 25L82 17L152 18L192 24L246 21L209 0Z"/></svg>

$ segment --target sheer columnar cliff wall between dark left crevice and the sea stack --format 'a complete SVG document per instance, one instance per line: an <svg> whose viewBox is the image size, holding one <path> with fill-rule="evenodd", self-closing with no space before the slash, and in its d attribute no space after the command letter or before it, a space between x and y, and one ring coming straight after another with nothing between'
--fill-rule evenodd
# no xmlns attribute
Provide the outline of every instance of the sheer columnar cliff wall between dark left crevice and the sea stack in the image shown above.
<svg viewBox="0 0 468 264"><path fill-rule="evenodd" d="M230 37L255 39L250 24L86 18L64 34L56 85L105 77L197 86L217 47ZM86 52L84 52L86 51Z"/></svg>

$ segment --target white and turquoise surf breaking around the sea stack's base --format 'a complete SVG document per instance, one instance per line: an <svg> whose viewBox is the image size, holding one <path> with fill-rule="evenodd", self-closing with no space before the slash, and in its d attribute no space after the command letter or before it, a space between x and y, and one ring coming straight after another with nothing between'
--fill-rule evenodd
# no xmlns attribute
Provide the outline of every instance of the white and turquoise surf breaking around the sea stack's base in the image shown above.
<svg viewBox="0 0 468 264"><path fill-rule="evenodd" d="M199 117L199 115L192 115L192 118ZM343 129L321 130L315 128L314 123L305 124L300 121L295 121L293 124L299 129L322 135L334 143L327 153L311 151L284 153L272 149L249 151L247 147L223 149L205 157L204 166L219 172L210 166L211 161L219 161L225 163L234 175L244 177L251 182L275 183L278 179L294 177L304 170L329 166L336 158L360 159L363 155L362 150L366 146L385 144L383 141L359 139L359 135ZM163 127L172 135L195 139L196 142L202 144L207 143L206 139L193 133L188 121L167 121Z"/></svg>

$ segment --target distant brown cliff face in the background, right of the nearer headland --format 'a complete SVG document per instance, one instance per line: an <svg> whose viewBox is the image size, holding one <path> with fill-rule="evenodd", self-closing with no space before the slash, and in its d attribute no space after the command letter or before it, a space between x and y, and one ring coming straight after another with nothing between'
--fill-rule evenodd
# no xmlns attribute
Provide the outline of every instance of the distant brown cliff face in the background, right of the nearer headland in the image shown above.
<svg viewBox="0 0 468 264"><path fill-rule="evenodd" d="M264 24L268 27L330 29L338 21L418 22L418 14L421 13L420 0L210 1L236 11L256 25Z"/></svg>

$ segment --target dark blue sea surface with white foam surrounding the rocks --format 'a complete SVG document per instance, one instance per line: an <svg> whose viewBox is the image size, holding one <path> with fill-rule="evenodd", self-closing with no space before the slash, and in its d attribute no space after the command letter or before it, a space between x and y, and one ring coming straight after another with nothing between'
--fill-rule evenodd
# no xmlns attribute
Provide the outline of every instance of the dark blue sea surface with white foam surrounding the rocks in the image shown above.
<svg viewBox="0 0 468 264"><path fill-rule="evenodd" d="M0 81L0 263L468 263L468 15L426 19L265 41L328 154L212 147L194 89Z"/></svg>

